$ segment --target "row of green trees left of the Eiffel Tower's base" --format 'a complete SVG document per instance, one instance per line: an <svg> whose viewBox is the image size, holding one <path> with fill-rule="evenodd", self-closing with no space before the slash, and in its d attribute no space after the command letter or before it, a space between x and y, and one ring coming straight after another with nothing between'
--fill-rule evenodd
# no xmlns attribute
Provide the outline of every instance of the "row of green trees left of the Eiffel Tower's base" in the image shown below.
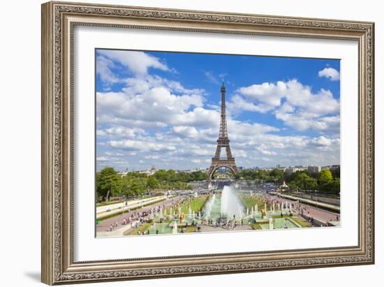
<svg viewBox="0 0 384 287"><path fill-rule="evenodd" d="M154 175L128 172L121 176L115 168L103 168L96 173L96 195L108 200L111 196L139 196L147 191L190 189L188 182L207 179L205 172L175 172L157 170Z"/></svg>

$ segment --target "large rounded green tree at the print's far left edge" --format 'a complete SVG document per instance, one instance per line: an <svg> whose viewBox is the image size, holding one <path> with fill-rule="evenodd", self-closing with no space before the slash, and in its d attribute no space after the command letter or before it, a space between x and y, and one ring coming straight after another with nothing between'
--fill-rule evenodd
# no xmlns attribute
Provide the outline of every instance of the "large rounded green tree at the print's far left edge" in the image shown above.
<svg viewBox="0 0 384 287"><path fill-rule="evenodd" d="M121 177L117 174L115 168L103 168L96 174L96 194L109 200L112 196L119 196L121 192Z"/></svg>

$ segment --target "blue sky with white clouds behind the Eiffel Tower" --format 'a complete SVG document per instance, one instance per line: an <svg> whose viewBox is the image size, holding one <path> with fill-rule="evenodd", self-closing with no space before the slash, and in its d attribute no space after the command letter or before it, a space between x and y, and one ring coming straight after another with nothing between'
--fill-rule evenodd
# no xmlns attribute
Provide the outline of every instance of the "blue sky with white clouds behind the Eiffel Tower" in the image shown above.
<svg viewBox="0 0 384 287"><path fill-rule="evenodd" d="M96 167L207 168L226 84L245 167L339 164L340 62L96 50Z"/></svg>

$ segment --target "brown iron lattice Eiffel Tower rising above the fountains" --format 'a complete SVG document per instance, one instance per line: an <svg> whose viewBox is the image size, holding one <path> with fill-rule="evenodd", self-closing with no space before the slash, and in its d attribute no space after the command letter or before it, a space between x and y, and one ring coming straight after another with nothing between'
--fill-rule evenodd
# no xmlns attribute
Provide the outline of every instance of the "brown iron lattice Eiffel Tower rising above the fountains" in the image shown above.
<svg viewBox="0 0 384 287"><path fill-rule="evenodd" d="M233 173L239 172L237 170L237 166L235 163L235 158L232 156L232 152L230 152L229 146L230 140L228 139L228 131L227 131L227 119L226 119L226 87L224 87L224 83L221 86L221 117L220 117L220 131L219 131L219 139L217 140L216 153L212 158L211 166L208 170L209 179L212 179L215 170L218 168L226 167L232 170ZM221 148L226 149L226 157L221 158Z"/></svg>

